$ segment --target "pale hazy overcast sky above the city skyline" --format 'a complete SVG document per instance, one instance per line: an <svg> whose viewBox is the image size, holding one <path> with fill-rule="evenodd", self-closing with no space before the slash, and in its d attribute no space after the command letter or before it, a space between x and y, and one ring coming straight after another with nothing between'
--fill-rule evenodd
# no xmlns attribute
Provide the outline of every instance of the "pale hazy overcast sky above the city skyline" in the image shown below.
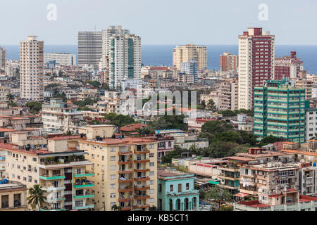
<svg viewBox="0 0 317 225"><path fill-rule="evenodd" d="M57 20L47 20L49 4ZM259 20L260 4L268 20ZM77 44L78 31L122 25L142 44L237 44L247 27L275 34L276 44L317 44L316 0L0 0L0 45L30 34L45 44Z"/></svg>

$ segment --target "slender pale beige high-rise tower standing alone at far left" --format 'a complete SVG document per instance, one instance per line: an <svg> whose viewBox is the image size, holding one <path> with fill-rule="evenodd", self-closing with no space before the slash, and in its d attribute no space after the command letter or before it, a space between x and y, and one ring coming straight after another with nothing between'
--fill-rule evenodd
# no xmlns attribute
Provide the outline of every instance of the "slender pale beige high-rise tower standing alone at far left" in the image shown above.
<svg viewBox="0 0 317 225"><path fill-rule="evenodd" d="M20 41L20 96L32 101L44 101L44 41L29 36Z"/></svg>

